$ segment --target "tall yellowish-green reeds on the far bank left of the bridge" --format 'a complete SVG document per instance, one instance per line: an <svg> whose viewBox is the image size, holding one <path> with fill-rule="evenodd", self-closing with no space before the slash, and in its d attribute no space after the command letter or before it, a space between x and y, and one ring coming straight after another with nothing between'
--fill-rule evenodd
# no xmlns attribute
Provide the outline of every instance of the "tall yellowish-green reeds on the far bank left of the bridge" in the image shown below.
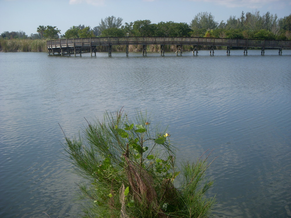
<svg viewBox="0 0 291 218"><path fill-rule="evenodd" d="M0 39L0 51L15 52L15 51L34 51L47 52L46 40L31 40L31 39Z"/></svg>

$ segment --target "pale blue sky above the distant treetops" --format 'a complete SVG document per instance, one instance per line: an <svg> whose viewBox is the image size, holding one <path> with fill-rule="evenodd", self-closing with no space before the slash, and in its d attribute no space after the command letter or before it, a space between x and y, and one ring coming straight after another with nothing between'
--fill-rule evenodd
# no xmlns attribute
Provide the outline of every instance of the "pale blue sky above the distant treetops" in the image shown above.
<svg viewBox="0 0 291 218"><path fill-rule="evenodd" d="M0 34L30 35L40 25L56 26L64 34L79 24L94 28L109 16L122 18L123 24L145 19L190 24L199 12L209 12L220 23L242 11L261 16L269 11L281 18L291 14L291 0L0 0Z"/></svg>

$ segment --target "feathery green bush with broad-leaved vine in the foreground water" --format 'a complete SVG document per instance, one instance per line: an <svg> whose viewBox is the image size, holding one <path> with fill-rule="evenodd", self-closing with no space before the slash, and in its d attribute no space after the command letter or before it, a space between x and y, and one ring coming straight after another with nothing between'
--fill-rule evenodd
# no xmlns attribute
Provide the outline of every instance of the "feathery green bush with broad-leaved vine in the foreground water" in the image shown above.
<svg viewBox="0 0 291 218"><path fill-rule="evenodd" d="M205 178L209 155L183 162L179 171L170 135L146 112L136 111L134 119L121 110L105 112L83 133L65 137L63 146L74 171L89 182L79 183L92 205L84 217L211 216L215 200L205 197L213 184Z"/></svg>

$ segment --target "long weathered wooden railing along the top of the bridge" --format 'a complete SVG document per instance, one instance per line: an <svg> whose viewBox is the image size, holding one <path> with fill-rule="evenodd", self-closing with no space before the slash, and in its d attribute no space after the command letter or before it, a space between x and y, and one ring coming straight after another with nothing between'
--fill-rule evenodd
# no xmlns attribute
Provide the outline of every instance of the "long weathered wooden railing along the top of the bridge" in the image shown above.
<svg viewBox="0 0 291 218"><path fill-rule="evenodd" d="M47 48L114 45L114 44L188 44L234 47L282 47L291 49L290 40L256 40L208 37L93 37L48 40Z"/></svg>

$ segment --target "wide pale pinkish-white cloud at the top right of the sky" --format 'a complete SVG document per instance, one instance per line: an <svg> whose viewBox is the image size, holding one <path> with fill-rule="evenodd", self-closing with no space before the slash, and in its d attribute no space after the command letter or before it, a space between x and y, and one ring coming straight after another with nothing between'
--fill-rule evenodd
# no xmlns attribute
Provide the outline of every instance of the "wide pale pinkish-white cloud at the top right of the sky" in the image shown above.
<svg viewBox="0 0 291 218"><path fill-rule="evenodd" d="M275 2L284 2L288 0L190 0L190 1L204 1L226 6L228 8L246 7L246 8L261 8Z"/></svg>

